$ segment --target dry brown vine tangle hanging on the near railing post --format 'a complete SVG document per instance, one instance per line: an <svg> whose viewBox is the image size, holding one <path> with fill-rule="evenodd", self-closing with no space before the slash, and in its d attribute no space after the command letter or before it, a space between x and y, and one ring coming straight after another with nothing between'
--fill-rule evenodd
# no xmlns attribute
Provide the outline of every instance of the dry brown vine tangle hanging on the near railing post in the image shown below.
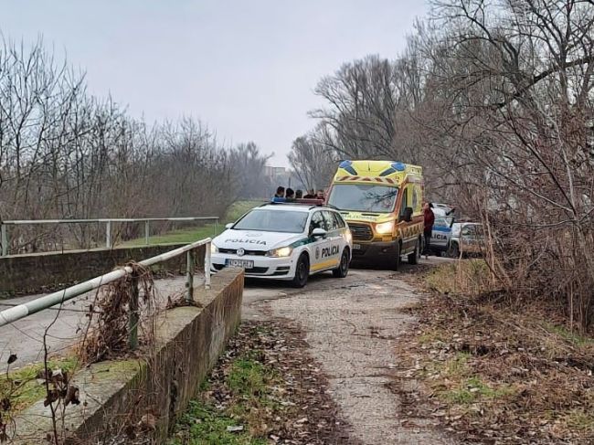
<svg viewBox="0 0 594 445"><path fill-rule="evenodd" d="M154 344L157 304L151 270L136 262L126 265L132 274L101 288L90 305L87 330L78 347L81 363L90 364L130 352L129 338L137 301L139 344Z"/></svg>

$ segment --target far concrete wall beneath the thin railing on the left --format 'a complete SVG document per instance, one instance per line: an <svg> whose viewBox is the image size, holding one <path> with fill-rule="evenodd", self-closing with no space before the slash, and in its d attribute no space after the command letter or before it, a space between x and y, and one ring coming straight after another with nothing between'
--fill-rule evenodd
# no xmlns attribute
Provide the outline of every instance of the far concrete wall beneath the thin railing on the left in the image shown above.
<svg viewBox="0 0 594 445"><path fill-rule="evenodd" d="M164 244L136 248L70 250L15 255L0 258L0 298L18 293L59 290L107 273L130 260L146 260L184 244ZM200 264L204 246L198 249ZM186 255L161 263L159 269L186 270Z"/></svg>

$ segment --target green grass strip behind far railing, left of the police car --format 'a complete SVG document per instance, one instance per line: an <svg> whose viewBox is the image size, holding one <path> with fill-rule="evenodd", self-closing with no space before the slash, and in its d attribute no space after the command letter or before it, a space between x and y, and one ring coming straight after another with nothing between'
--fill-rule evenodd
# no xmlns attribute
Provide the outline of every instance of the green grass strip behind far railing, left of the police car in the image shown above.
<svg viewBox="0 0 594 445"><path fill-rule="evenodd" d="M227 211L225 217L223 217L217 225L205 224L200 227L194 228L179 228L171 230L162 235L154 235L149 237L149 244L171 244L171 243L190 243L204 238L214 238L220 235L225 229L225 225L229 222L234 222L243 216L248 210L253 207L260 206L261 201L238 201L232 204ZM146 240L144 238L131 239L122 243L122 246L144 246Z"/></svg>

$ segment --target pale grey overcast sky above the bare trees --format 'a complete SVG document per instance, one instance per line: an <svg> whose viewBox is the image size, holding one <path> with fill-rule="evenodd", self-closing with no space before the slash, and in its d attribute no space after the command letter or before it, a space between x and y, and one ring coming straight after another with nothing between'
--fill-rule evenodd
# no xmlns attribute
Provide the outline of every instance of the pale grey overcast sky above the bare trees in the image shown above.
<svg viewBox="0 0 594 445"><path fill-rule="evenodd" d="M313 127L318 79L404 48L425 0L0 0L0 30L42 36L147 121L191 115L226 143L254 141L288 165Z"/></svg>

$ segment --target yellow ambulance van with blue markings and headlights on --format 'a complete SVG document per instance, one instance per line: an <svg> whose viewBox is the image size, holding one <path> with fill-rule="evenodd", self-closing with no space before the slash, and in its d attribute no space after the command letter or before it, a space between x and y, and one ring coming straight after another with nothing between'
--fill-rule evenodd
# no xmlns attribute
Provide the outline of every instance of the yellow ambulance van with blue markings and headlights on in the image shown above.
<svg viewBox="0 0 594 445"><path fill-rule="evenodd" d="M343 161L328 192L353 235L353 262L398 270L417 264L423 243L423 172L392 161Z"/></svg>

